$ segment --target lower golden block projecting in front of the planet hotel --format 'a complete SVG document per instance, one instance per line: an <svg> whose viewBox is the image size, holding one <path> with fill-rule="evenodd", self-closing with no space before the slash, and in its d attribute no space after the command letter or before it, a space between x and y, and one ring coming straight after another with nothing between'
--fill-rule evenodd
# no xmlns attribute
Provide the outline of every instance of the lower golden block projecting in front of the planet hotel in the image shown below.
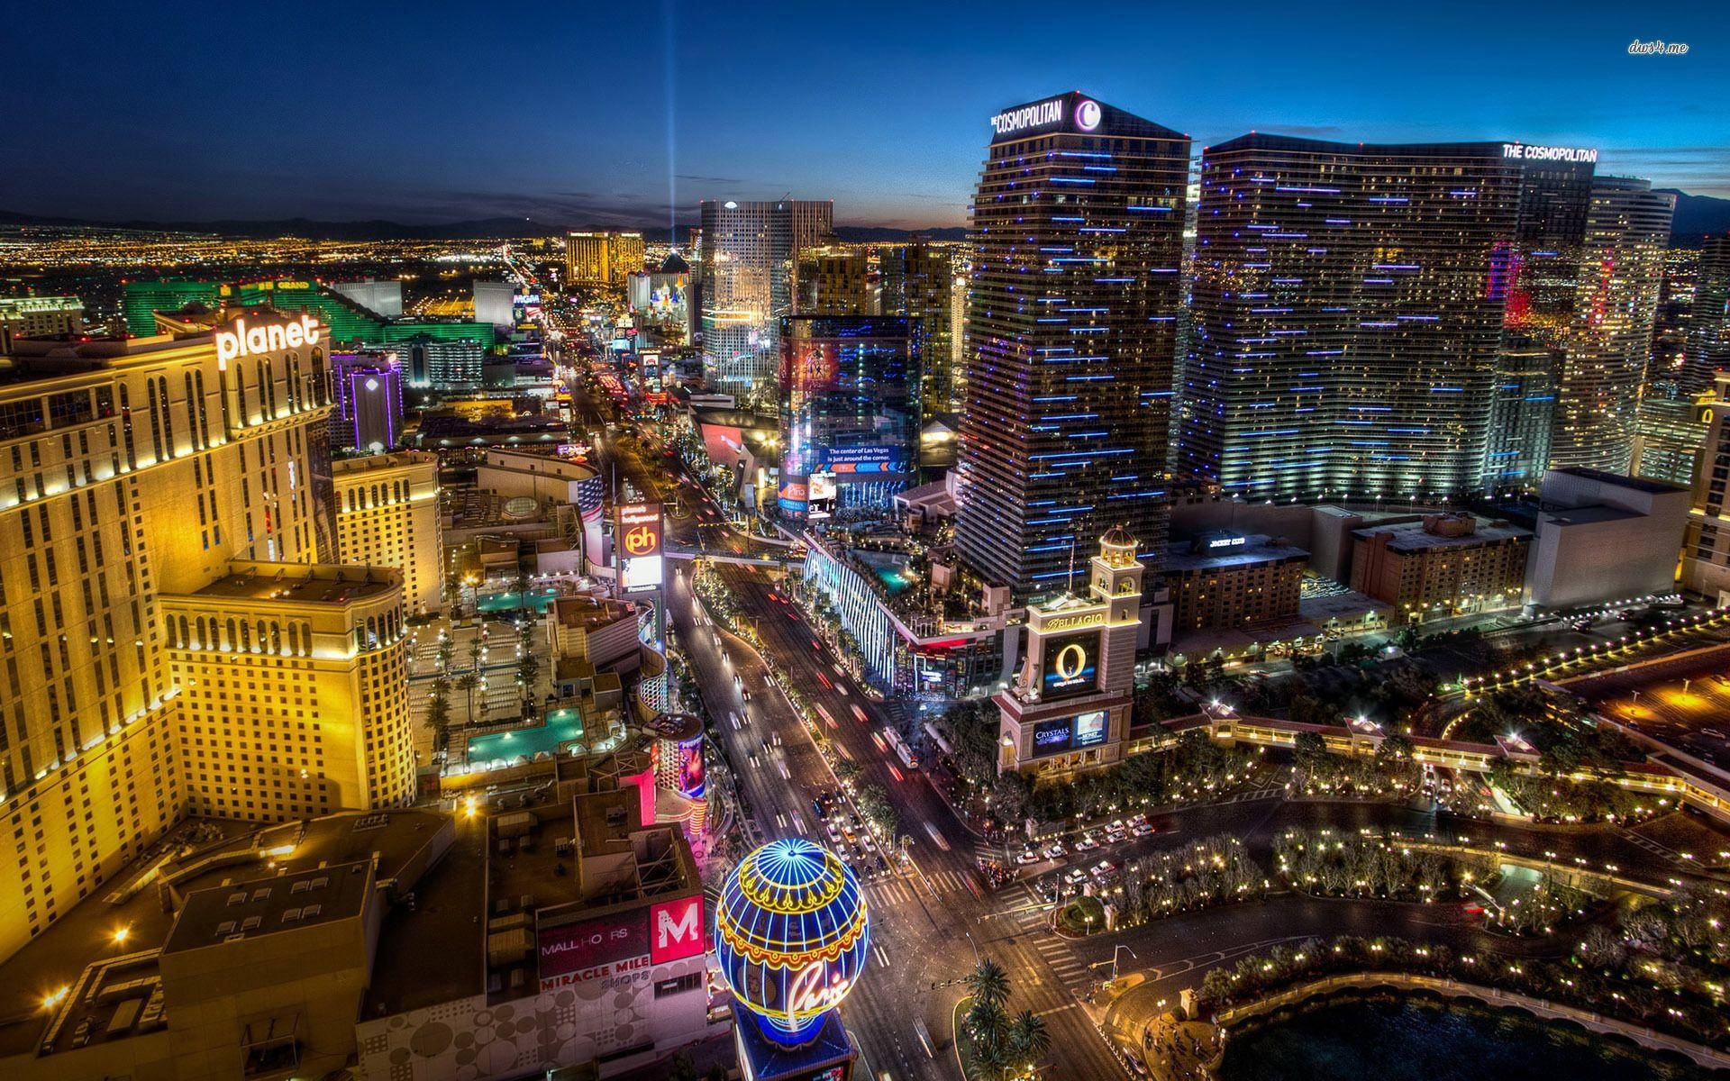
<svg viewBox="0 0 1730 1081"><path fill-rule="evenodd" d="M408 803L400 571L234 562L163 609L192 813L280 822Z"/></svg>

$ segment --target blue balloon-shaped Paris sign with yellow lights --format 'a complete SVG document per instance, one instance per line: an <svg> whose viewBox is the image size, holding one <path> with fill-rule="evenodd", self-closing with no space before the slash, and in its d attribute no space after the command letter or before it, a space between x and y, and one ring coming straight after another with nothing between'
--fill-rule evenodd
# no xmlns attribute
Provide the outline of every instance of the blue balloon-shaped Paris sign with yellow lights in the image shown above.
<svg viewBox="0 0 1730 1081"><path fill-rule="evenodd" d="M858 879L803 837L770 841L727 875L714 956L742 1007L775 1043L799 1045L853 989L870 950Z"/></svg>

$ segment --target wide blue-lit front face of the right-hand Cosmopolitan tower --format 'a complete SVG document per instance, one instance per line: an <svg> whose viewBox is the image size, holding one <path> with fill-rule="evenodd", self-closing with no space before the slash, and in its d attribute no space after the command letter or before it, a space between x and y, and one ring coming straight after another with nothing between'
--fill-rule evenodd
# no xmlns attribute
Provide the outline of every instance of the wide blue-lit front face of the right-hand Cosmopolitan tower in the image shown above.
<svg viewBox="0 0 1730 1081"><path fill-rule="evenodd" d="M1476 489L1521 161L1503 144L1209 147L1180 472L1278 502Z"/></svg>

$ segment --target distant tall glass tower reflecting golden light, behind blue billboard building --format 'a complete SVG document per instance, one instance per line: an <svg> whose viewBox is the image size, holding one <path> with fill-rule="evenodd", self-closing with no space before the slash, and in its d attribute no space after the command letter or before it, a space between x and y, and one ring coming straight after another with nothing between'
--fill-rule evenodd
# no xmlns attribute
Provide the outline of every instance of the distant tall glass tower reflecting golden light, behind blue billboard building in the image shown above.
<svg viewBox="0 0 1730 1081"><path fill-rule="evenodd" d="M834 204L701 204L702 370L718 389L773 393L780 318L792 311L794 258L832 232Z"/></svg>

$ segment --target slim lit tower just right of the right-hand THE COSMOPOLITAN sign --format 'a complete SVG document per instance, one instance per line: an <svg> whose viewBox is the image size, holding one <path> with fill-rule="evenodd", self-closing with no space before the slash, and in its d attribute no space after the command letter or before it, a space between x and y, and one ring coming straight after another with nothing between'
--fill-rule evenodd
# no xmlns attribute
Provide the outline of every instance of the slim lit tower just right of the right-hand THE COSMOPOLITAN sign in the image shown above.
<svg viewBox="0 0 1730 1081"><path fill-rule="evenodd" d="M1592 185L1578 330L1562 363L1552 469L1628 472L1675 206L1675 195L1654 192L1645 180L1599 176ZM1678 391L1687 396L1709 386L1708 377Z"/></svg>

